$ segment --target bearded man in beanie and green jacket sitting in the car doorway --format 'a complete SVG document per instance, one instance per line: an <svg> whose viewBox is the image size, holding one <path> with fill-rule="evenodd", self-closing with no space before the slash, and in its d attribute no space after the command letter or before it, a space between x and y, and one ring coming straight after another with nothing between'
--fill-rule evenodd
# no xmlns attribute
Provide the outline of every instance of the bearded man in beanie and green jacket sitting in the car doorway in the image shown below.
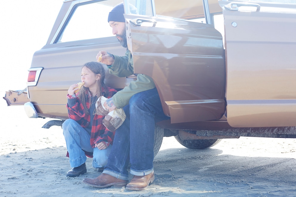
<svg viewBox="0 0 296 197"><path fill-rule="evenodd" d="M136 12L135 7L130 7L130 10ZM127 47L123 14L124 5L116 5L109 13L108 22L121 45ZM101 62L107 64L111 74L118 77L134 74L133 58L128 49L123 57L100 51L97 58L101 54ZM127 117L116 130L112 150L102 174L95 179L85 178L82 182L98 188L126 186L128 190L144 190L154 180L155 122L169 119L164 115L152 78L138 74L136 81L106 100L104 106L109 111L123 108ZM128 183L129 163L130 173L134 176Z"/></svg>

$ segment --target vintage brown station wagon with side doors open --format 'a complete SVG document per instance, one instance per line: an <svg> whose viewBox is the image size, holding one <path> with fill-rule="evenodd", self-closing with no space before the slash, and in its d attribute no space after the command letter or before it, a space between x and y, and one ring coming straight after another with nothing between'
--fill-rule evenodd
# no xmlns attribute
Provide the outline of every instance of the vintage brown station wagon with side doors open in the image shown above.
<svg viewBox="0 0 296 197"><path fill-rule="evenodd" d="M7 105L30 118L67 116L67 90L100 50L124 55L107 22L123 0L65 0L46 45L35 52L27 88L7 91ZM138 9L130 14L127 4ZM164 113L163 136L208 148L240 136L296 138L296 3L293 0L124 0L134 72L153 78ZM107 66L106 66L107 71ZM107 72L122 89L134 77ZM51 95L55 95L52 97Z"/></svg>

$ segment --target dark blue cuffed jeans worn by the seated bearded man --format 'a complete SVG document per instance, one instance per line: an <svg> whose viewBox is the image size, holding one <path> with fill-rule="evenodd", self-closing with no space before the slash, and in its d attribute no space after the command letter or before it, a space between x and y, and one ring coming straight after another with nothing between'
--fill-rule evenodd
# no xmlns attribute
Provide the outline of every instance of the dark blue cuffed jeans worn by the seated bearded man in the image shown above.
<svg viewBox="0 0 296 197"><path fill-rule="evenodd" d="M155 122L169 117L164 115L156 88L133 95L124 112L127 117L115 132L103 173L128 180L129 163L132 175L152 173Z"/></svg>

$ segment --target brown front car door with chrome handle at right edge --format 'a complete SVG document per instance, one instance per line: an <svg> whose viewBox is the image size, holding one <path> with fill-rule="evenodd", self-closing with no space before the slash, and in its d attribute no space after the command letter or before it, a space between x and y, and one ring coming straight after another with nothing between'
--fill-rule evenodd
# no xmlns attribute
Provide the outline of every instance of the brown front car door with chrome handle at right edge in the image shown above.
<svg viewBox="0 0 296 197"><path fill-rule="evenodd" d="M220 1L227 121L233 127L296 125L296 4L291 2Z"/></svg>

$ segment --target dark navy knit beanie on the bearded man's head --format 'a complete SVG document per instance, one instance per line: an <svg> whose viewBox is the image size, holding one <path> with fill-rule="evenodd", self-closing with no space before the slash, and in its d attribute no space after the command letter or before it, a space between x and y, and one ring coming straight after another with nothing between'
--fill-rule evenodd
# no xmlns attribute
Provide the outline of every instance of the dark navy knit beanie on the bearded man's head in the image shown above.
<svg viewBox="0 0 296 197"><path fill-rule="evenodd" d="M133 5L129 5L129 11L132 14L137 14L137 8ZM113 9L111 10L111 12L109 12L109 16L108 16L108 23L110 21L116 21L116 22L125 22L124 19L124 6L123 3L117 4L115 5L115 7L113 7Z"/></svg>

